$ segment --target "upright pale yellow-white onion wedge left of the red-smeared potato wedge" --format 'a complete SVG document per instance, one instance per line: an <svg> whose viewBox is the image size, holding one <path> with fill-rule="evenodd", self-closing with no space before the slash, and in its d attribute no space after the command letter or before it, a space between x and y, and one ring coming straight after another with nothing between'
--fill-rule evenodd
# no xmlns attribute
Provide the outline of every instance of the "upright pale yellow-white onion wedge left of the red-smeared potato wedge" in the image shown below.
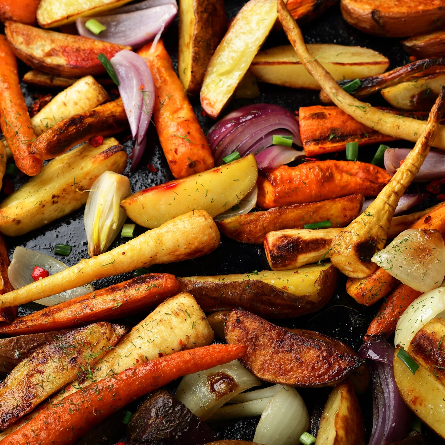
<svg viewBox="0 0 445 445"><path fill-rule="evenodd" d="M129 179L113 171L105 171L94 181L84 214L90 257L105 252L121 231L127 215L120 204L129 194Z"/></svg>

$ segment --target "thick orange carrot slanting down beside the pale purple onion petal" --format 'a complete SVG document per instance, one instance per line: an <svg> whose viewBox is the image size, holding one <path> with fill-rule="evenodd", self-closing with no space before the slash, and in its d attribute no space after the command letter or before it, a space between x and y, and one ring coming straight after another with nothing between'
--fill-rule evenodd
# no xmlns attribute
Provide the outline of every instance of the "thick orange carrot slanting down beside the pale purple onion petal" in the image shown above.
<svg viewBox="0 0 445 445"><path fill-rule="evenodd" d="M146 59L153 75L153 120L159 142L175 178L184 178L214 167L214 160L184 86L174 72L170 56L159 40L138 54Z"/></svg>

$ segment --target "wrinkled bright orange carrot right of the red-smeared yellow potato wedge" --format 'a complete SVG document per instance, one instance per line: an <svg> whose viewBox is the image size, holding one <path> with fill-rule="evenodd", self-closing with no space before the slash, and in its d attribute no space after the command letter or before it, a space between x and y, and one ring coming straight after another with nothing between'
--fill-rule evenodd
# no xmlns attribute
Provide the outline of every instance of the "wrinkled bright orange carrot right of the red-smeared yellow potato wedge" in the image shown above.
<svg viewBox="0 0 445 445"><path fill-rule="evenodd" d="M281 166L259 175L257 204L271 209L354 193L376 196L390 179L386 170L365 162L329 159Z"/></svg>

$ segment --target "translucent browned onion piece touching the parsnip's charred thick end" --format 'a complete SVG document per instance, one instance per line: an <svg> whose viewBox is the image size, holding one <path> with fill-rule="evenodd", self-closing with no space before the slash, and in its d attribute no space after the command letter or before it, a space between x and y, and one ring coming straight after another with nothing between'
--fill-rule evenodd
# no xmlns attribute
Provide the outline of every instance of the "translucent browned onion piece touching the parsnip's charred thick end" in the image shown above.
<svg viewBox="0 0 445 445"><path fill-rule="evenodd" d="M444 280L444 240L437 230L405 230L371 261L416 291L427 292Z"/></svg>

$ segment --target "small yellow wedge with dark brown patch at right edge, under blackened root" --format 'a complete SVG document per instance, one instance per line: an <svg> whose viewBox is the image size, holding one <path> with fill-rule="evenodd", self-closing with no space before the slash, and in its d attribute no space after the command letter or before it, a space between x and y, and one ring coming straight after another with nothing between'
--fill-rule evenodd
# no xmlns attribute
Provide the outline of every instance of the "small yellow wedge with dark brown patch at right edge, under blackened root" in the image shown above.
<svg viewBox="0 0 445 445"><path fill-rule="evenodd" d="M393 107L429 111L445 85L445 74L432 74L382 89L380 94Z"/></svg>

